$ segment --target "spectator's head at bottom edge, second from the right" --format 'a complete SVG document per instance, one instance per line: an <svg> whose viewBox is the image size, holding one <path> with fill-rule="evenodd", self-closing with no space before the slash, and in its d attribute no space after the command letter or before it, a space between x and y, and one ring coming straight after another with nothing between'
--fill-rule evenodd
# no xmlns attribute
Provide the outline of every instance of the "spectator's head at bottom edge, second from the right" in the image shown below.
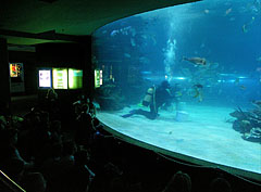
<svg viewBox="0 0 261 192"><path fill-rule="evenodd" d="M187 174L177 171L174 174L163 192L190 192L191 179Z"/></svg>

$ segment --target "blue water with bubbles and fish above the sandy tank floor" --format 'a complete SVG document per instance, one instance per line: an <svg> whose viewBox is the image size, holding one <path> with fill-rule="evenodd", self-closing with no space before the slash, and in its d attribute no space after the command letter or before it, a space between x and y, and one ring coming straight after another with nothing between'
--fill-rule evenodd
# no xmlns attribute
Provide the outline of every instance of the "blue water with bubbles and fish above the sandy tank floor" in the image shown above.
<svg viewBox="0 0 261 192"><path fill-rule="evenodd" d="M103 71L97 92L109 94L101 92L113 84L126 104L166 79L188 103L250 107L261 99L261 1L204 0L115 21L94 33L92 56ZM191 97L195 84L203 86L201 102Z"/></svg>

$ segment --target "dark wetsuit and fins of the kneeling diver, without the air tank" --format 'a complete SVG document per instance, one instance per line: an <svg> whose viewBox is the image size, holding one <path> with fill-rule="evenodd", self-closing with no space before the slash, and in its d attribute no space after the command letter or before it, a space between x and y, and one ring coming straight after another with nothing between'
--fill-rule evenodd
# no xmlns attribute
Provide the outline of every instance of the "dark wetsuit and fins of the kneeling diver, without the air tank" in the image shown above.
<svg viewBox="0 0 261 192"><path fill-rule="evenodd" d="M167 88L160 86L159 88L156 89L154 98L152 98L152 101L149 105L150 112L144 111L141 108L133 110L129 112L129 114L123 115L122 117L126 118L133 115L144 115L149 119L156 119L157 116L159 116L158 114L159 107L170 102L172 98L173 97L171 95L170 90Z"/></svg>

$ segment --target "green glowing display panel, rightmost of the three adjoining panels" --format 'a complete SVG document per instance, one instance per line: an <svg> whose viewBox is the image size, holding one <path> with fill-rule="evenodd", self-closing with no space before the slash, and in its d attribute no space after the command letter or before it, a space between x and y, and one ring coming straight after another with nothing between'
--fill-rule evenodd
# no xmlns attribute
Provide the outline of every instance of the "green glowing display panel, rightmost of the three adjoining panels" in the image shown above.
<svg viewBox="0 0 261 192"><path fill-rule="evenodd" d="M69 89L83 88L83 71L69 68Z"/></svg>

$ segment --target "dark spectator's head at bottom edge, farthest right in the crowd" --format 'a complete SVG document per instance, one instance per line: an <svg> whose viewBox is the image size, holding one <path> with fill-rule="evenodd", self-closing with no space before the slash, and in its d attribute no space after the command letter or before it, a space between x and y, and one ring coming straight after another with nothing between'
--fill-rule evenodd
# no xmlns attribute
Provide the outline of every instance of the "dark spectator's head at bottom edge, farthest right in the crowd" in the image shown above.
<svg viewBox="0 0 261 192"><path fill-rule="evenodd" d="M215 178L210 183L210 192L232 192L231 184L224 178Z"/></svg>

